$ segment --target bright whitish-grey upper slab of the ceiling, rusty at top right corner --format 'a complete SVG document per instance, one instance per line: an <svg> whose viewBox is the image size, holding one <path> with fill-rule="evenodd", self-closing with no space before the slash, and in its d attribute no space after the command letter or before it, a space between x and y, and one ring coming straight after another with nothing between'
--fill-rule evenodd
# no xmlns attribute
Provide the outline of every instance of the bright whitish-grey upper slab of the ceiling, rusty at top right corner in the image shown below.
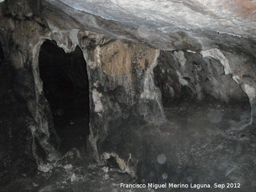
<svg viewBox="0 0 256 192"><path fill-rule="evenodd" d="M60 0L76 10L165 33L213 30L234 36L254 36L256 4L253 1L132 1Z"/></svg>

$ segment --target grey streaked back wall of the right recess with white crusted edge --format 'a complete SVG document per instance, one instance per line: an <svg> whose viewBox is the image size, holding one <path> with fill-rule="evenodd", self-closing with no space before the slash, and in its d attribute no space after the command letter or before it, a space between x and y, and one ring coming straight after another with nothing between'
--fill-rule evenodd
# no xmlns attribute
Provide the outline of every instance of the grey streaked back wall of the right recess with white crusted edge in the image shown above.
<svg viewBox="0 0 256 192"><path fill-rule="evenodd" d="M155 68L155 82L164 100L202 100L210 95L232 102L248 100L255 123L255 60L219 49L163 51ZM241 127L241 129L243 129Z"/></svg>

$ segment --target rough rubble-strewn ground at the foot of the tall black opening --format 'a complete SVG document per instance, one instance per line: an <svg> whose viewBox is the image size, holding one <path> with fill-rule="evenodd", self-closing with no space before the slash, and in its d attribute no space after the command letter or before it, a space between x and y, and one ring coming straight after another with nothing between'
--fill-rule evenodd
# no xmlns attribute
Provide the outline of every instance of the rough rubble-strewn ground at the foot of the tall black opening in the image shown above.
<svg viewBox="0 0 256 192"><path fill-rule="evenodd" d="M10 179L10 178L9 178ZM16 172L12 180L4 180L0 191L6 192L96 192L124 191L120 183L132 184L135 180L114 164L104 166L88 162L84 151L70 149L52 172L30 170L27 173Z"/></svg>

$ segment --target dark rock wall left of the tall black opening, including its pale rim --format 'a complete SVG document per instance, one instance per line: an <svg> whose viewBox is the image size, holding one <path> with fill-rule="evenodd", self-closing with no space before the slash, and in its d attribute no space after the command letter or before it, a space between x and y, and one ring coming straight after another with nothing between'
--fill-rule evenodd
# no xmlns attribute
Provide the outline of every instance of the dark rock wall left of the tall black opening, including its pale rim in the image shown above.
<svg viewBox="0 0 256 192"><path fill-rule="evenodd" d="M2 114L1 129L3 132L9 130L20 138L3 134L8 144L2 146L5 146L4 151L16 146L15 151L19 151L20 159L35 158L38 169L47 172L59 157L56 150L58 136L38 74L40 36L47 33L46 24L32 12L26 1L1 4L0 36L5 54L1 67L1 79L5 81L1 85L1 101L4 101L1 103L4 111L13 112L10 115ZM13 108L15 105L16 109ZM9 142L15 142L15 145ZM28 142L29 147L25 145Z"/></svg>

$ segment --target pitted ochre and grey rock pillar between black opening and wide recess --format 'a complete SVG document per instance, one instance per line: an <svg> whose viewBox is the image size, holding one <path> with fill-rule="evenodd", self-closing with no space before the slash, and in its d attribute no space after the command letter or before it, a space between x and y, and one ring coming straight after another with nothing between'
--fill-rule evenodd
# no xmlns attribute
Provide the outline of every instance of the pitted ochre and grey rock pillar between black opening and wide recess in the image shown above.
<svg viewBox="0 0 256 192"><path fill-rule="evenodd" d="M159 50L88 31L80 31L78 39L90 82L89 141L94 155L97 142L129 117L165 120L161 92L153 80ZM99 156L95 159L99 162Z"/></svg>

